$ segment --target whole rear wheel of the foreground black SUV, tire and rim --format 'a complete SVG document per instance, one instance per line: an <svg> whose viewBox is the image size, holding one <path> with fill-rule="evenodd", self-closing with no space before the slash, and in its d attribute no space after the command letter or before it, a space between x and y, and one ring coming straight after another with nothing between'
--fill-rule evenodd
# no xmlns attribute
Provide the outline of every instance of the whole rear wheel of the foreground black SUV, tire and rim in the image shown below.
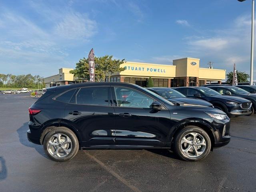
<svg viewBox="0 0 256 192"><path fill-rule="evenodd" d="M76 135L66 127L58 127L48 132L43 144L46 155L57 162L72 159L79 149Z"/></svg>

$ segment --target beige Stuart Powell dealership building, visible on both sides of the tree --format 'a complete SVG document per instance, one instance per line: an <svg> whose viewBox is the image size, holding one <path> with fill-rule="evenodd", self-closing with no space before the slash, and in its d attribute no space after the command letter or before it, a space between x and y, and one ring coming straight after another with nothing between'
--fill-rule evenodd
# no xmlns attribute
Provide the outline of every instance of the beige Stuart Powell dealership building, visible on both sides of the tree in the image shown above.
<svg viewBox="0 0 256 192"><path fill-rule="evenodd" d="M173 65L152 64L141 62L125 62L120 67L125 70L113 74L112 82L128 82L145 87L151 77L155 87L200 86L209 82L225 79L226 70L200 68L200 59L181 58L173 60ZM70 74L72 68L60 68L59 74L44 78L46 87L77 83L78 78ZM108 78L106 79L108 81Z"/></svg>

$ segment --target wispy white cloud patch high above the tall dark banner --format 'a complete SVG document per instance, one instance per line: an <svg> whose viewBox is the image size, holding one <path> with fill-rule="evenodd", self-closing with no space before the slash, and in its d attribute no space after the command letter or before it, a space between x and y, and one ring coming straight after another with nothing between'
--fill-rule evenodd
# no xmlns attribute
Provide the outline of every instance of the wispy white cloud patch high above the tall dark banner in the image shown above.
<svg viewBox="0 0 256 192"><path fill-rule="evenodd" d="M88 40L96 33L96 22L80 13L68 14L56 25L54 33L66 39Z"/></svg>

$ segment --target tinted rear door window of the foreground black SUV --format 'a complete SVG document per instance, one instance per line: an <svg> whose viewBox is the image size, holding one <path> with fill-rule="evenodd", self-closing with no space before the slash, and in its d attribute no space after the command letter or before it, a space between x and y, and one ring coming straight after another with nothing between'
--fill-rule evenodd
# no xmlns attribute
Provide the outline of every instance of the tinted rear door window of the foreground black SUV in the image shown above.
<svg viewBox="0 0 256 192"><path fill-rule="evenodd" d="M76 104L108 106L108 87L81 88L74 97Z"/></svg>

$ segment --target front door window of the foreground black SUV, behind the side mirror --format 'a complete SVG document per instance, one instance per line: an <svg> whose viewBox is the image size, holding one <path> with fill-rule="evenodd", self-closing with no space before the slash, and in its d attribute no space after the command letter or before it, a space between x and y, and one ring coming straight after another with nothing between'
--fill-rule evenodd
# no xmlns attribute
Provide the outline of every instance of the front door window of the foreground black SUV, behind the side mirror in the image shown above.
<svg viewBox="0 0 256 192"><path fill-rule="evenodd" d="M130 88L114 87L118 107L150 108L154 100Z"/></svg>

